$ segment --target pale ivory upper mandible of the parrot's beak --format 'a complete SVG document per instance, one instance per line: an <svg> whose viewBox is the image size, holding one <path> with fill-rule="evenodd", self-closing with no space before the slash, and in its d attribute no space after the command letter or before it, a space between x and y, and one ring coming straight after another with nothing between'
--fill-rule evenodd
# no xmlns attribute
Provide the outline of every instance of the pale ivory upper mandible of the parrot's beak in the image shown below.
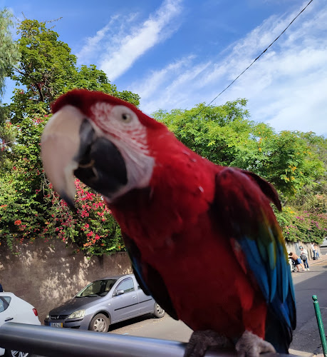
<svg viewBox="0 0 327 357"><path fill-rule="evenodd" d="M81 111L65 106L53 114L41 138L44 171L60 196L74 207L75 183L73 172L78 168L74 159L81 144L79 135L83 121Z"/></svg>

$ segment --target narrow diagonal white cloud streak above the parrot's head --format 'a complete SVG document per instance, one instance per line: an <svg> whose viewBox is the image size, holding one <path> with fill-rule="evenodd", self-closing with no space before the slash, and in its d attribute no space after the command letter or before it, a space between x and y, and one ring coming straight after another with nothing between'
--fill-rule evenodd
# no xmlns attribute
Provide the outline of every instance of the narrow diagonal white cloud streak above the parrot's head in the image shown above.
<svg viewBox="0 0 327 357"><path fill-rule="evenodd" d="M114 81L155 44L163 41L177 29L171 21L181 11L180 0L165 0L160 9L140 26L130 29L129 34L115 36L100 59L100 69L105 71L110 81Z"/></svg>

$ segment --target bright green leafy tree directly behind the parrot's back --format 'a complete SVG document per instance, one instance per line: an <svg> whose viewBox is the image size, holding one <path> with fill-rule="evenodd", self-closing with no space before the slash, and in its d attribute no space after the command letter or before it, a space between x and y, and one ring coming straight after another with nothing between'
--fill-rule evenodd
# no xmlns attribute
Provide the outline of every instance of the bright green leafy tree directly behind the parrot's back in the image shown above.
<svg viewBox="0 0 327 357"><path fill-rule="evenodd" d="M284 199L323 177L323 161L301 133L282 131L250 121L246 99L222 106L157 111L177 139L216 164L253 171L274 184Z"/></svg>

